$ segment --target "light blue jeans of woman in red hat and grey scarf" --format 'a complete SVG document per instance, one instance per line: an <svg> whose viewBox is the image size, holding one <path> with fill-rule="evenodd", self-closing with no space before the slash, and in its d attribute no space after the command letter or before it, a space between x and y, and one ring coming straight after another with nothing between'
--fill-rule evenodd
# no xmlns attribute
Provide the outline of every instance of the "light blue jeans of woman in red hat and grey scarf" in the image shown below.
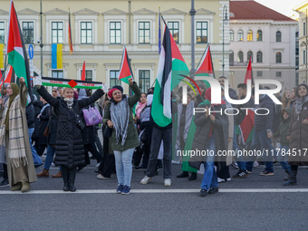
<svg viewBox="0 0 308 231"><path fill-rule="evenodd" d="M113 150L116 162L116 171L119 185L129 186L131 181L132 164L131 159L134 154L133 149Z"/></svg>

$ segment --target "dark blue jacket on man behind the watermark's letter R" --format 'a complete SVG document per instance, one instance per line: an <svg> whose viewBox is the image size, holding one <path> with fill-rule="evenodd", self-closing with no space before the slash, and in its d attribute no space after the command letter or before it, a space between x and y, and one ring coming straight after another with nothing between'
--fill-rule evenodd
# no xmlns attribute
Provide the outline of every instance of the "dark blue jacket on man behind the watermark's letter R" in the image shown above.
<svg viewBox="0 0 308 231"><path fill-rule="evenodd" d="M255 130L272 130L273 129L273 116L274 116L274 102L267 95L261 98L259 101L259 105L255 105L255 109L258 108L266 108L269 113L265 115L268 111L266 110L258 110L255 113Z"/></svg>

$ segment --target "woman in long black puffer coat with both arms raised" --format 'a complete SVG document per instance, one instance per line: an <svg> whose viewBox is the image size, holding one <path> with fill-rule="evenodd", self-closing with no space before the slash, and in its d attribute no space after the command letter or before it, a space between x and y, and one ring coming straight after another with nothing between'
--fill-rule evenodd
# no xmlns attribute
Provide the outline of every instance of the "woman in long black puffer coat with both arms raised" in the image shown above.
<svg viewBox="0 0 308 231"><path fill-rule="evenodd" d="M54 113L59 117L55 160L57 166L62 166L63 191L76 191L74 186L77 166L84 164L84 149L82 143L82 128L85 126L79 117L82 108L97 101L104 94L101 89L95 91L89 98L82 100L73 99L72 88L63 90L63 98L53 98L48 91L38 85L37 92L43 99L53 106Z"/></svg>

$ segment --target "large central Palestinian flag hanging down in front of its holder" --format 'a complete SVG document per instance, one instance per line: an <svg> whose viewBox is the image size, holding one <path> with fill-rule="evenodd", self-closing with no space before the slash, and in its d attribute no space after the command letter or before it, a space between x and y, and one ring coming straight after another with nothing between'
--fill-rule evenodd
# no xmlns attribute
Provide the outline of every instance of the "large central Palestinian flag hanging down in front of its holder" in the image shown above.
<svg viewBox="0 0 308 231"><path fill-rule="evenodd" d="M172 121L171 90L188 75L188 66L178 45L165 23L165 32L159 57L158 75L155 81L151 115L156 124L166 127Z"/></svg>

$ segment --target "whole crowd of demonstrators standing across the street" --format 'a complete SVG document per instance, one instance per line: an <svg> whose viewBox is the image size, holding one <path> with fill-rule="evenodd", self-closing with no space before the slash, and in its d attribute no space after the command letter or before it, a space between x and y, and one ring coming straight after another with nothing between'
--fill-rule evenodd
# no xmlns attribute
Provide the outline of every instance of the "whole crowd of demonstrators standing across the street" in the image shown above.
<svg viewBox="0 0 308 231"><path fill-rule="evenodd" d="M4 178L0 187L9 185L11 190L25 192L31 188L30 183L36 181L36 176L49 178L49 169L54 162L60 166L60 171L52 177L63 178L64 191L75 191L76 172L90 164L89 152L97 160L97 178L110 179L111 174L116 173L116 192L123 195L130 194L133 169L146 168L145 176L140 180L140 184L146 185L159 175L161 161L166 187L172 184L172 163L182 164L177 178L188 180L197 179L197 170L203 164L200 197L217 193L219 183L231 180L230 165L238 168L233 178L247 178L260 160L265 164L260 176L274 175L276 159L287 174L282 180L283 185L295 185L298 166L308 165L308 157L303 155L308 149L307 85L300 84L292 90L284 90L282 95L275 94L281 105L275 104L266 94L260 95L259 104L255 105L255 87L248 95L246 84L240 83L236 93L230 85L226 86L225 81L225 76L218 79L220 103L212 102L212 89L203 83L198 84L198 89L188 89L187 102L183 101L182 88L177 93L172 92L172 121L166 127L159 127L151 116L151 111L155 110L152 108L154 88L141 93L132 79L130 89L134 94L130 97L123 94L119 85L111 87L108 93L97 90L92 95L85 89L73 91L72 88L62 90L57 87L53 87L50 95L44 87L38 86L41 100L36 101L33 95L32 99L28 97L28 104L23 78L21 89L14 83L5 84L4 97L0 100L3 105L0 111L0 164L3 164ZM262 89L269 88L264 86ZM234 105L226 101L226 92L233 100L250 99ZM101 124L85 126L83 110L94 107L101 113ZM254 124L250 141L243 138L243 133L238 133L248 118L247 111L241 108L254 111L253 121L250 121ZM238 113L235 113L236 109ZM194 110L204 113L194 113ZM13 142L15 130L22 134L18 142ZM43 164L40 156L46 148L43 170L35 174L35 167ZM178 151L184 154L189 149L204 150L207 155L189 156L186 153L187 156L177 156ZM262 159L256 159L256 155L236 155L236 151L243 149L265 150L268 155L263 155ZM234 156L217 155L222 150L233 150Z"/></svg>

